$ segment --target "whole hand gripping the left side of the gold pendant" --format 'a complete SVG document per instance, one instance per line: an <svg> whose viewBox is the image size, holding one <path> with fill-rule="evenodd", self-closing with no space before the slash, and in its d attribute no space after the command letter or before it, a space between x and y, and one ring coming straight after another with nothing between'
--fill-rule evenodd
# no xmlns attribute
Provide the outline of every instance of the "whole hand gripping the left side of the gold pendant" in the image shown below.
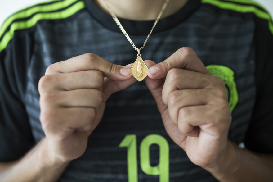
<svg viewBox="0 0 273 182"><path fill-rule="evenodd" d="M87 53L47 68L38 84L40 121L54 157L70 161L85 152L106 100L136 81L131 67Z"/></svg>

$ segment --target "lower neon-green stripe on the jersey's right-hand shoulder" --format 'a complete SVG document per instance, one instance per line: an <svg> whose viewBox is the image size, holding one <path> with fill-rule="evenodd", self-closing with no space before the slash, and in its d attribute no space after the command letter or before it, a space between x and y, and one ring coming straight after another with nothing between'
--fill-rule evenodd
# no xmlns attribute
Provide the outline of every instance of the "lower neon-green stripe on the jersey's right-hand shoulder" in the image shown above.
<svg viewBox="0 0 273 182"><path fill-rule="evenodd" d="M239 2L243 0L229 0L229 1L234 1L234 2ZM250 2L250 1L247 1ZM240 13L254 13L258 18L268 20L268 28L273 34L273 24L271 20L271 16L268 12L262 11L259 8L252 6L248 3L248 5L239 5L235 4L232 2L223 2L223 1L218 1L218 0L202 0L202 3L205 4L211 4L213 6L216 6L221 9L226 9L226 10L232 10ZM253 2L254 3L254 2Z"/></svg>

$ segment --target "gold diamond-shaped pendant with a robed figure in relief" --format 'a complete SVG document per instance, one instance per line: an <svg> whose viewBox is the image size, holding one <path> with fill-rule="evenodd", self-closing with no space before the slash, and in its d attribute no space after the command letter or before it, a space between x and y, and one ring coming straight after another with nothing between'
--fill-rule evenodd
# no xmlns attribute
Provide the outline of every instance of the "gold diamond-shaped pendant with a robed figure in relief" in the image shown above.
<svg viewBox="0 0 273 182"><path fill-rule="evenodd" d="M138 56L131 70L133 77L135 77L138 81L142 81L147 76L149 69L142 58Z"/></svg>

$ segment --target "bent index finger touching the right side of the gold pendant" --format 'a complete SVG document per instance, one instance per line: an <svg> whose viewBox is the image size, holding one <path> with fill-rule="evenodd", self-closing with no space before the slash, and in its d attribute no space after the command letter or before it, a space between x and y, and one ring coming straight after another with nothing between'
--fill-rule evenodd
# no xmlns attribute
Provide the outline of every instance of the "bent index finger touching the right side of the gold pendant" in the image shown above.
<svg viewBox="0 0 273 182"><path fill-rule="evenodd" d="M164 78L172 68L180 68L211 75L195 52L191 48L184 47L178 49L165 61L152 66L148 71L148 76L152 79Z"/></svg>

